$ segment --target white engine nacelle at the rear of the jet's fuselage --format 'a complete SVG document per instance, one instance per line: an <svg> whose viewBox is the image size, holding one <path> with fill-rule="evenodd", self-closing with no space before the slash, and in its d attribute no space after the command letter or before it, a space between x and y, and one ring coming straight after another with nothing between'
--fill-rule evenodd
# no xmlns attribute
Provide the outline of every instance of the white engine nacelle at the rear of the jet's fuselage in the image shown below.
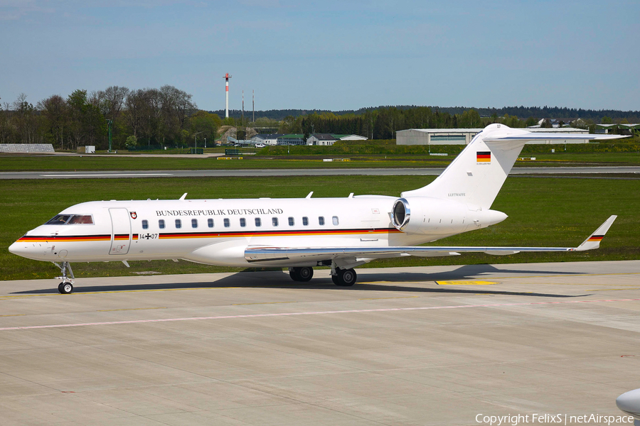
<svg viewBox="0 0 640 426"><path fill-rule="evenodd" d="M496 210L431 197L399 198L391 209L391 223L407 234L459 234L506 218Z"/></svg>

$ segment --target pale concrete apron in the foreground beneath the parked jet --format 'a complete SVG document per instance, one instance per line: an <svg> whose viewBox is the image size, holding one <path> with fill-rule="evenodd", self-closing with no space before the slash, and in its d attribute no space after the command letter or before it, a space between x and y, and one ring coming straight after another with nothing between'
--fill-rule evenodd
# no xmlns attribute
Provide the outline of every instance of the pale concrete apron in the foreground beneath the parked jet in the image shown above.
<svg viewBox="0 0 640 426"><path fill-rule="evenodd" d="M640 261L358 274L0 281L0 423L533 424L639 387Z"/></svg>

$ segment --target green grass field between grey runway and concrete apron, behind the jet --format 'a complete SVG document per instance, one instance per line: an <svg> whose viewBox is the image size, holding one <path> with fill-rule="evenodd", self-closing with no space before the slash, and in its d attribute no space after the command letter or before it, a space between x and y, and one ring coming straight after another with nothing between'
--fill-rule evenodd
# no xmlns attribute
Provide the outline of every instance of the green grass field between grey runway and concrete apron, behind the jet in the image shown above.
<svg viewBox="0 0 640 426"><path fill-rule="evenodd" d="M29 229L65 207L90 200L238 197L346 197L349 192L398 196L433 177L336 176L324 178L195 178L104 180L3 180L0 183L0 280L53 278L50 263L15 256L7 247ZM518 253L513 256L467 254L448 258L402 258L368 266L516 263L538 261L622 260L640 258L639 180L526 178L506 180L492 208L509 218L501 224L437 241L441 245L577 246L611 214L617 221L601 249L581 253ZM133 275L140 271L202 273L238 271L180 261L75 263L77 278Z"/></svg>

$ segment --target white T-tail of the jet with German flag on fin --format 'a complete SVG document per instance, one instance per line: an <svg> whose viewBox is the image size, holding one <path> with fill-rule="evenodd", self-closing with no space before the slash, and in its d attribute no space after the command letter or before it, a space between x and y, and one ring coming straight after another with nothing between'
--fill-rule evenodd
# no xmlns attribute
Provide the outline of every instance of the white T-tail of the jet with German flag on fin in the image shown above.
<svg viewBox="0 0 640 426"><path fill-rule="evenodd" d="M402 192L402 197L434 197L456 200L489 209L518 155L528 141L619 138L587 133L542 133L490 124L478 133L442 174L429 185Z"/></svg>

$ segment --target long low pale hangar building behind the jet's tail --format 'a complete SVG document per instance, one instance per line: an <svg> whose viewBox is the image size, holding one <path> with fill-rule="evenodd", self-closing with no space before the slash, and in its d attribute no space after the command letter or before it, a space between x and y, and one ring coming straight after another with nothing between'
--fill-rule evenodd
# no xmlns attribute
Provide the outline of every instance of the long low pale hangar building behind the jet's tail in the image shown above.
<svg viewBox="0 0 640 426"><path fill-rule="evenodd" d="M397 145L466 145L484 129L407 129L395 132ZM531 132L588 134L586 129L562 128L527 128ZM529 143L589 143L586 139L567 141L536 141Z"/></svg>

